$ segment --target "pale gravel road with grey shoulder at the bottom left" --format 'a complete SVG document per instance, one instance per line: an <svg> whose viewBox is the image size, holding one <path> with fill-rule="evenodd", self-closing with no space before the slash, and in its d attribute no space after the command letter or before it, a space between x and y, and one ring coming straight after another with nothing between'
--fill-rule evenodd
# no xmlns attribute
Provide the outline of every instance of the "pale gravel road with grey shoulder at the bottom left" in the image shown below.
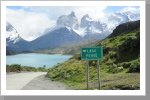
<svg viewBox="0 0 150 100"><path fill-rule="evenodd" d="M7 90L71 90L60 82L45 77L46 72L28 72L6 75Z"/></svg>

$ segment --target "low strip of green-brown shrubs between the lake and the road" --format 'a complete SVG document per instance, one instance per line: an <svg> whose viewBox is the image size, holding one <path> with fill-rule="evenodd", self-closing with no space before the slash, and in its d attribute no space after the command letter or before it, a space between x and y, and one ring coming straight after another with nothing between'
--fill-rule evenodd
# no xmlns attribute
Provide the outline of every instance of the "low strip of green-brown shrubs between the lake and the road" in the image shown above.
<svg viewBox="0 0 150 100"><path fill-rule="evenodd" d="M35 68L30 66L21 66L19 64L6 65L6 72L47 72L43 67Z"/></svg>

